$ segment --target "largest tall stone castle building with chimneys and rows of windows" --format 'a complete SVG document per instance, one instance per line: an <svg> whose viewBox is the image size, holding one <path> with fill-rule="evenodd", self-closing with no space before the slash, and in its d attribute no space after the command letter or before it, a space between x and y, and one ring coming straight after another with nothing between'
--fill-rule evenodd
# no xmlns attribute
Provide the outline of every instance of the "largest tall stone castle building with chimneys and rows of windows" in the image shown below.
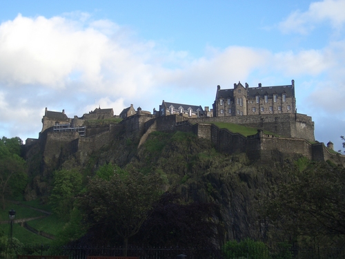
<svg viewBox="0 0 345 259"><path fill-rule="evenodd" d="M240 82L233 89L217 86L213 116L246 116L296 113L295 81L286 86L250 88Z"/></svg>

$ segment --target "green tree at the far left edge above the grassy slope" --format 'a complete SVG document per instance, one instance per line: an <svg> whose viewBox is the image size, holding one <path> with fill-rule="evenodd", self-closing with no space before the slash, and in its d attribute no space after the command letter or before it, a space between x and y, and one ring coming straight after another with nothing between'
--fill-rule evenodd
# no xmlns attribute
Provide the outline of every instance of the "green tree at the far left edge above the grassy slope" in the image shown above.
<svg viewBox="0 0 345 259"><path fill-rule="evenodd" d="M0 141L0 196L3 209L8 195L20 195L27 184L26 162L20 157L19 137Z"/></svg>

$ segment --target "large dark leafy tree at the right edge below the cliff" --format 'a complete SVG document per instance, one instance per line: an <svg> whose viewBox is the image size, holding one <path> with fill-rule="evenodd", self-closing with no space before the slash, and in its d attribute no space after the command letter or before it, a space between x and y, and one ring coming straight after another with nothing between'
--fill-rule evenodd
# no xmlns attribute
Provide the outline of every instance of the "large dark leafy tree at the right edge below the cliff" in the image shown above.
<svg viewBox="0 0 345 259"><path fill-rule="evenodd" d="M311 162L288 171L290 181L273 186L266 217L293 236L345 238L345 169Z"/></svg>

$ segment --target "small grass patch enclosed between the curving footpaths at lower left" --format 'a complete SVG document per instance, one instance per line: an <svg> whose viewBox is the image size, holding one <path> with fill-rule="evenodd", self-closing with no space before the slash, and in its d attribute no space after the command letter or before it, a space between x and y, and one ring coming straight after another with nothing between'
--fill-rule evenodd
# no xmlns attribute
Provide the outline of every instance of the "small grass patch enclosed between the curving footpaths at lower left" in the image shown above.
<svg viewBox="0 0 345 259"><path fill-rule="evenodd" d="M38 220L30 220L26 223L38 231L44 231L53 236L56 236L66 224L55 214L49 215L46 218L39 218Z"/></svg>

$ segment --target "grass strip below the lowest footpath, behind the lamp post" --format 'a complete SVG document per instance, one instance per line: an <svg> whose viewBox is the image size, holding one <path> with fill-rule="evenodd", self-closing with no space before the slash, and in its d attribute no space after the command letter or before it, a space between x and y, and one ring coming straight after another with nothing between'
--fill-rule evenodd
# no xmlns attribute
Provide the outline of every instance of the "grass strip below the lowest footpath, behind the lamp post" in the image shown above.
<svg viewBox="0 0 345 259"><path fill-rule="evenodd" d="M0 229L5 236L8 236L10 231L10 224L0 224ZM13 224L13 237L18 238L23 244L50 244L52 240L44 238L43 236L36 235L27 229L24 229L19 224Z"/></svg>

